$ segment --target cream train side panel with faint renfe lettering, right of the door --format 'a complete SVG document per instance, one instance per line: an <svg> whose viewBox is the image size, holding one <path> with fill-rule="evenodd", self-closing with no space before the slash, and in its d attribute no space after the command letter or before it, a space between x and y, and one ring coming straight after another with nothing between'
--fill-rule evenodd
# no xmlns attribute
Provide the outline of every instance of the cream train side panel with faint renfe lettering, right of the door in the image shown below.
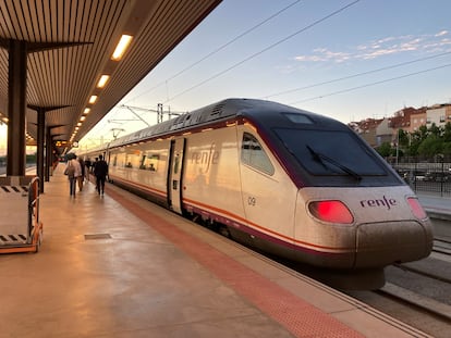
<svg viewBox="0 0 451 338"><path fill-rule="evenodd" d="M243 222L234 126L186 136L183 206L226 225Z"/></svg>

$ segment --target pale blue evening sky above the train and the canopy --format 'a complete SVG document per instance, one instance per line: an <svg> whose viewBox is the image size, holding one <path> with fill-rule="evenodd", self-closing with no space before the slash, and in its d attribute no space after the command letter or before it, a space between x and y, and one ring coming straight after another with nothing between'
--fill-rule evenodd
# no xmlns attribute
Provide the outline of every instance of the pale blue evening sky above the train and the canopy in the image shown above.
<svg viewBox="0 0 451 338"><path fill-rule="evenodd" d="M223 0L84 139L90 148L226 98L343 123L451 103L449 0ZM168 117L164 116L164 120Z"/></svg>

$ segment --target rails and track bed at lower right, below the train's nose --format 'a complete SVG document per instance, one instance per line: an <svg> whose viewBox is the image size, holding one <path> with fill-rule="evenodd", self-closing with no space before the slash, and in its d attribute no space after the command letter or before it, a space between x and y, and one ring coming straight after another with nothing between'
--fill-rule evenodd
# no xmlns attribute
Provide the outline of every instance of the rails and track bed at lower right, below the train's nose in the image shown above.
<svg viewBox="0 0 451 338"><path fill-rule="evenodd" d="M437 238L432 251L428 259L387 267L387 284L379 290L344 293L434 337L449 337L451 243Z"/></svg>

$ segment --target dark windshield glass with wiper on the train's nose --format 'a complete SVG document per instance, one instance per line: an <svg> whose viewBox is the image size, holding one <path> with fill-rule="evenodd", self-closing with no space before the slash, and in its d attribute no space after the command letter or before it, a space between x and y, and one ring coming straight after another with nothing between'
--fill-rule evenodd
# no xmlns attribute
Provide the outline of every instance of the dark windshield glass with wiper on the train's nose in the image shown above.
<svg viewBox="0 0 451 338"><path fill-rule="evenodd" d="M275 130L297 162L313 175L387 175L378 158L348 132Z"/></svg>

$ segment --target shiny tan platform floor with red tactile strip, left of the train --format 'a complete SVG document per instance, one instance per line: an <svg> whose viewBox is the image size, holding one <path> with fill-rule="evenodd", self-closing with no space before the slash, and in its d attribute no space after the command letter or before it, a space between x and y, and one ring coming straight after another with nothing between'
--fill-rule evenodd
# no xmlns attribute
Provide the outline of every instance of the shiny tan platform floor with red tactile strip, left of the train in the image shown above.
<svg viewBox="0 0 451 338"><path fill-rule="evenodd" d="M0 255L0 337L428 337L112 185L59 165L38 253Z"/></svg>

